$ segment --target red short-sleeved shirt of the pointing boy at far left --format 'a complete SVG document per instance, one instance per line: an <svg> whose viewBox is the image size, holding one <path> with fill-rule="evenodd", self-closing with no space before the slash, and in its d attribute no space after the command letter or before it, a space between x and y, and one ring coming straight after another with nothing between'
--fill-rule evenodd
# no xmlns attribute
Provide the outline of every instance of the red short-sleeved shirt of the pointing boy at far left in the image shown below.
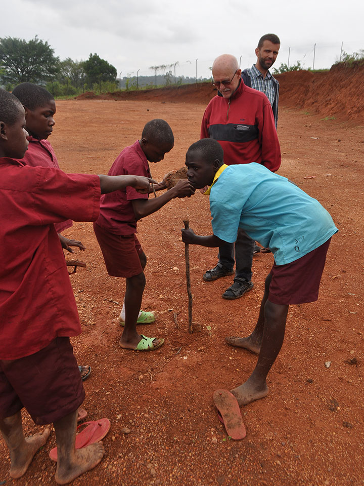
<svg viewBox="0 0 364 486"><path fill-rule="evenodd" d="M98 176L0 158L0 359L81 332L54 223L95 221L100 195Z"/></svg>

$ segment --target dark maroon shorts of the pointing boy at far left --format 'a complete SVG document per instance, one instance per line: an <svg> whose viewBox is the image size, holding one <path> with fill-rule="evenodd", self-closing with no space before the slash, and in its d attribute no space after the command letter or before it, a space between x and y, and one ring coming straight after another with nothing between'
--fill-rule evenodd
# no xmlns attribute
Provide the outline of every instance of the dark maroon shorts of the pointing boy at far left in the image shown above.
<svg viewBox="0 0 364 486"><path fill-rule="evenodd" d="M23 407L38 425L78 409L84 389L69 338L56 338L24 358L0 360L0 418Z"/></svg>

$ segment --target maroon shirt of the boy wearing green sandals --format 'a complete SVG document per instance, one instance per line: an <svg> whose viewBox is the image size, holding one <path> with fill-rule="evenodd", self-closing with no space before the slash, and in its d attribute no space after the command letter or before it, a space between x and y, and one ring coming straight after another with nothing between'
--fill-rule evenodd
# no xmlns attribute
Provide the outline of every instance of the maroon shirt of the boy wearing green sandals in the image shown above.
<svg viewBox="0 0 364 486"><path fill-rule="evenodd" d="M151 177L148 160L139 140L124 148L115 159L108 175L131 174ZM141 194L133 187L103 194L100 201L100 216L96 223L113 234L136 233L136 219L131 203L133 199L148 199L148 194Z"/></svg>

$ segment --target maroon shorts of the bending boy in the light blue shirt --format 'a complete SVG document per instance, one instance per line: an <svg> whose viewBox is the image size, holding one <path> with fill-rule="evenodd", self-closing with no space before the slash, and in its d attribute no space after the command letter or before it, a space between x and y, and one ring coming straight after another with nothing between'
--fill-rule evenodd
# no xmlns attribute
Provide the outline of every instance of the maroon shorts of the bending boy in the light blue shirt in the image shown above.
<svg viewBox="0 0 364 486"><path fill-rule="evenodd" d="M292 263L274 264L270 270L268 300L281 305L316 301L330 241L331 238Z"/></svg>

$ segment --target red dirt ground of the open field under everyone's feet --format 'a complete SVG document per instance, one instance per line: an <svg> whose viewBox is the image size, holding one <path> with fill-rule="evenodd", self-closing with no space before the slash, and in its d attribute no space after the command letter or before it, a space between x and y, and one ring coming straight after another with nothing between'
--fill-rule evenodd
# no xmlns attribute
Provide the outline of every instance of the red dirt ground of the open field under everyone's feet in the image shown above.
<svg viewBox="0 0 364 486"><path fill-rule="evenodd" d="M190 335L180 228L188 218L197 232L210 233L208 199L197 193L173 200L145 218L138 235L148 257L143 308L156 310L158 319L140 332L166 342L156 352L135 353L118 346L124 282L107 275L92 224L75 223L65 234L85 244L79 257L87 268L70 277L83 327L73 344L78 362L93 369L85 382L84 407L89 419L108 417L112 424L102 463L76 479L75 486L364 484L364 127L323 119L334 116L334 109L323 107L320 115L308 114L307 107L293 109L284 78L281 86L279 173L319 199L340 230L332 239L319 301L290 308L286 339L268 376L270 393L242 409L246 438L229 440L212 393L242 383L256 357L229 347L223 338L252 330L272 256L255 256L254 289L242 299L225 301L221 294L231 277L202 280L202 273L216 263L216 250L191 248L193 315L200 331ZM120 150L140 137L145 122L159 117L170 123L176 140L165 159L151 167L161 179L184 164L186 149L199 138L206 106L200 94L200 102L189 97L181 102L167 92L162 99L155 93L148 99L143 92L138 100L57 102L51 141L61 168L107 173ZM342 119L348 118L343 110ZM304 179L307 175L316 178ZM39 430L26 412L23 416L27 433ZM130 433L124 434L124 427ZM13 481L1 441L0 483L53 483L55 465L48 453L54 445L52 433L26 474Z"/></svg>

